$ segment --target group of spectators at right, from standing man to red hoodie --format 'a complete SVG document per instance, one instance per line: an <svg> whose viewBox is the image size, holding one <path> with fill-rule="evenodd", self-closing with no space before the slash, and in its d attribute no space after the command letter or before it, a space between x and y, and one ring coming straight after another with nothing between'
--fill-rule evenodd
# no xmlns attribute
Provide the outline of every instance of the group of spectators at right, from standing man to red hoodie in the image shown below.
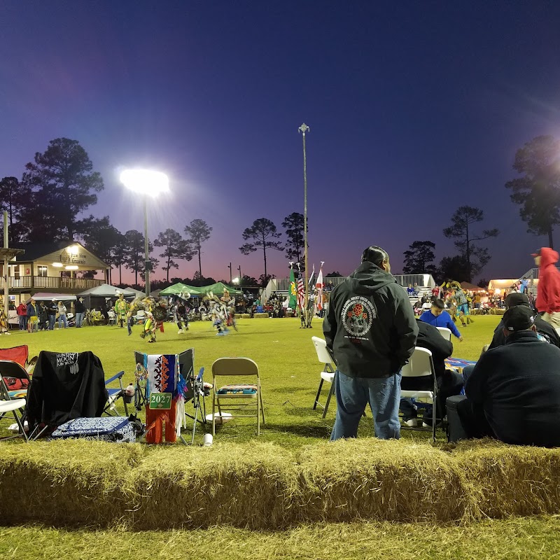
<svg viewBox="0 0 560 560"><path fill-rule="evenodd" d="M526 293L514 290L507 295L507 310L491 344L461 376L445 366L453 345L436 326L454 328L454 323L441 297L434 297L430 309L414 318L407 295L391 275L386 251L365 249L360 267L332 291L323 322L337 364L331 440L356 437L368 403L377 437L400 437L399 406L407 423L416 425L414 403L400 402L400 387L425 390L433 381L423 386L420 378L401 380L400 370L419 346L432 353L439 393L436 417L442 421L447 405L451 439L490 436L512 444L560 446L559 255L542 248L533 256L540 266L536 311ZM464 313L461 295L453 297L458 312ZM460 337L458 331L454 334ZM463 383L465 395L459 395Z"/></svg>

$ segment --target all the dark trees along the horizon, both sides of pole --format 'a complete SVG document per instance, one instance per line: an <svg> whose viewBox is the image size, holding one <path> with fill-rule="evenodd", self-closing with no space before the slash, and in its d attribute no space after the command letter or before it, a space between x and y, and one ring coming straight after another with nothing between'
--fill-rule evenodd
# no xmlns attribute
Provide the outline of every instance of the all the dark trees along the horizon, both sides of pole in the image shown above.
<svg viewBox="0 0 560 560"><path fill-rule="evenodd" d="M513 168L521 175L505 183L511 191L512 202L518 204L519 215L528 225L527 232L547 235L553 247L554 227L560 224L560 141L552 136L540 136L527 142L515 153ZM33 162L25 166L20 180L4 177L0 181L0 209L8 212L9 241L80 240L92 253L118 269L122 283L123 267L145 279L144 235L137 230L119 232L109 216L84 216L97 203L97 193L104 183L101 174L93 170L86 151L79 142L57 138L43 153L37 152ZM480 241L496 237L496 228L474 230L483 221L484 212L469 206L459 207L451 216L451 225L443 235L454 239L456 255L442 258L434 264L435 243L414 241L405 251L405 274L435 274L439 278L452 277L472 281L490 260L487 248ZM269 251L284 251L288 260L299 262L303 257L304 217L293 212L282 222L286 241L268 218L258 218L246 228L241 237L246 241L239 251L248 255L262 251L264 274L260 281L270 278L267 269ZM167 273L179 267L180 260L198 258L198 279L202 276L202 244L210 238L212 228L201 219L194 219L184 228L184 235L172 229L160 232L149 244L150 251L159 247L159 258L151 257L153 269L160 266ZM160 260L161 259L161 260ZM249 281L251 277L247 276ZM110 280L111 281L111 280Z"/></svg>

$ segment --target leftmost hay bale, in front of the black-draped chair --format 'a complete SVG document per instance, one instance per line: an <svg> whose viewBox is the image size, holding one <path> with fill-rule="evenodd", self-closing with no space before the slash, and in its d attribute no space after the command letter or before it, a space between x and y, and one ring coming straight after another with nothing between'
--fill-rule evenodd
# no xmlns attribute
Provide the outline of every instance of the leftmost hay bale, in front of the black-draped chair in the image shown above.
<svg viewBox="0 0 560 560"><path fill-rule="evenodd" d="M56 526L123 519L139 444L87 440L0 444L0 518Z"/></svg>

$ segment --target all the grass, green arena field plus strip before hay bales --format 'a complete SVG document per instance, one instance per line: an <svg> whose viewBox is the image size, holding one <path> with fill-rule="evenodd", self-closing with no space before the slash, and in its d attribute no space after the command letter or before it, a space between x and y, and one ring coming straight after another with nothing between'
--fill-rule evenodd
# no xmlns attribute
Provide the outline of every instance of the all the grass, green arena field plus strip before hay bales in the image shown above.
<svg viewBox="0 0 560 560"><path fill-rule="evenodd" d="M483 316L461 329L464 342L454 339L454 356L477 359L490 341L499 318ZM209 323L192 323L186 335L177 335L167 323L157 344L131 337L115 327L89 327L0 337L0 346L29 344L31 355L52 351L92 350L104 364L106 376L125 370L132 379L134 350L174 353L195 348L195 368L210 366L221 356L248 356L260 366L267 423L260 441L276 442L290 449L328 439L335 416L332 404L326 419L311 410L321 365L311 345L312 335L322 335L321 322L300 330L297 320L253 319L239 321L239 332L216 337ZM326 389L323 389L323 400ZM372 435L370 414L360 424L360 436ZM442 435L440 435L440 438ZM219 431L216 442L250 442L255 438L251 421L232 421ZM423 434L404 431L410 439L429 447ZM197 437L200 443L202 435ZM30 445L33 445L32 443ZM188 448L184 448L188 452ZM1 484L1 481L0 481ZM17 499L15 496L14 499ZM413 499L412 496L410 499ZM9 525L4 519L3 525ZM309 524L286 531L249 531L215 526L205 530L123 531L69 530L48 526L0 528L0 558L94 559L133 557L179 559L557 559L560 558L560 517L513 517L471 524L398 524L356 522Z"/></svg>

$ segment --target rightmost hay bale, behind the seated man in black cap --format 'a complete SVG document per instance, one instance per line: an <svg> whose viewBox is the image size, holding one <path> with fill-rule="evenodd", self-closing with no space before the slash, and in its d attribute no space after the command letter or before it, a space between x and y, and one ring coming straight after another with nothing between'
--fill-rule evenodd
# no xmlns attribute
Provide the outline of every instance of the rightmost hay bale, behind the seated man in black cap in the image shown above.
<svg viewBox="0 0 560 560"><path fill-rule="evenodd" d="M560 449L461 442L454 461L477 491L489 517L560 513Z"/></svg>

